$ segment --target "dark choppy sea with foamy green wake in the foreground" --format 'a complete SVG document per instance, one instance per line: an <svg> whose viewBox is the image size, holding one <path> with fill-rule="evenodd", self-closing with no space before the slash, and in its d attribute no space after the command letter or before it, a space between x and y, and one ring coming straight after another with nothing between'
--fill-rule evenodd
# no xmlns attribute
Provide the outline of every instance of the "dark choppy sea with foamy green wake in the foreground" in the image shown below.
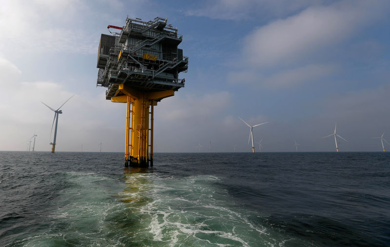
<svg viewBox="0 0 390 247"><path fill-rule="evenodd" d="M390 155L0 152L0 246L390 246Z"/></svg>

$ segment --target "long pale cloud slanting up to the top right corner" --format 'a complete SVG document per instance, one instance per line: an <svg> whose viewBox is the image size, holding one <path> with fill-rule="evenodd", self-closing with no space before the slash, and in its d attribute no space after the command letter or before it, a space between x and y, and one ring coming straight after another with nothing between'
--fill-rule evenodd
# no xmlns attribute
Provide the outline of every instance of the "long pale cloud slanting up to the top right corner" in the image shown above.
<svg viewBox="0 0 390 247"><path fill-rule="evenodd" d="M318 56L382 16L388 5L383 1L341 1L309 7L297 15L257 27L244 39L243 58L249 66L263 67Z"/></svg>

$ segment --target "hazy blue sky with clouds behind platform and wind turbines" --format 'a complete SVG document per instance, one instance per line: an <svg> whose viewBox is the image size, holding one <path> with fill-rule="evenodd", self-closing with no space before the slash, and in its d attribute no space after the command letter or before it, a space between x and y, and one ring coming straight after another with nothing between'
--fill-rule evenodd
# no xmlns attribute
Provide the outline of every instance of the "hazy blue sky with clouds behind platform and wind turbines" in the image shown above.
<svg viewBox="0 0 390 247"><path fill-rule="evenodd" d="M390 142L388 0L0 0L0 150L124 152L126 105L97 87L107 25L183 35L185 87L155 107L155 152L381 151ZM390 150L390 144L385 148ZM255 145L258 151L258 144Z"/></svg>

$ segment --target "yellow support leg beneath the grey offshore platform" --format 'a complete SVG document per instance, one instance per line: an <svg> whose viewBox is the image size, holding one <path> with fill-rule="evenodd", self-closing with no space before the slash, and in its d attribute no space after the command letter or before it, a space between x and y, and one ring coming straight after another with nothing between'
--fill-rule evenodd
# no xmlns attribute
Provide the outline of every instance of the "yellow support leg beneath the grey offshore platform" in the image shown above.
<svg viewBox="0 0 390 247"><path fill-rule="evenodd" d="M111 101L127 103L125 166L153 165L153 106L156 100L173 96L174 91L139 91L124 84L118 89L125 95L112 97Z"/></svg>

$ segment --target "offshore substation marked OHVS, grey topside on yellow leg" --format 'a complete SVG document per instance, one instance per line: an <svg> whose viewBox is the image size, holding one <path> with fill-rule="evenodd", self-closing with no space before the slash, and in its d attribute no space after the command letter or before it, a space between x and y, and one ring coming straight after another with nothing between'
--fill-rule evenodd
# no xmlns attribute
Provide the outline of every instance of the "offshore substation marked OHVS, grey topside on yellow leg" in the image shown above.
<svg viewBox="0 0 390 247"><path fill-rule="evenodd" d="M153 166L154 106L184 87L188 57L177 46L183 37L167 24L126 18L117 32L101 34L97 86L107 87L106 100L127 103L125 166Z"/></svg>

